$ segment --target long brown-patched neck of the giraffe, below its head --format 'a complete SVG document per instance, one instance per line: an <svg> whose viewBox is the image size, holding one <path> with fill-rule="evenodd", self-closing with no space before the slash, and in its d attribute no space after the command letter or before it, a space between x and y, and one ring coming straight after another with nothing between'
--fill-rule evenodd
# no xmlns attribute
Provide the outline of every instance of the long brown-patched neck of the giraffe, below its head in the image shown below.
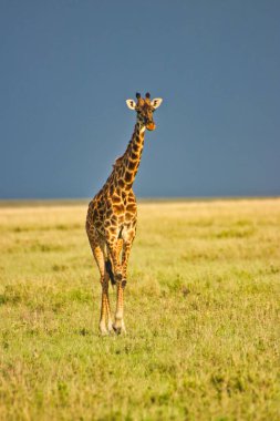
<svg viewBox="0 0 280 421"><path fill-rule="evenodd" d="M145 127L137 122L124 155L116 160L114 166L113 173L115 172L114 182L116 187L126 191L132 188L141 163L144 138Z"/></svg>

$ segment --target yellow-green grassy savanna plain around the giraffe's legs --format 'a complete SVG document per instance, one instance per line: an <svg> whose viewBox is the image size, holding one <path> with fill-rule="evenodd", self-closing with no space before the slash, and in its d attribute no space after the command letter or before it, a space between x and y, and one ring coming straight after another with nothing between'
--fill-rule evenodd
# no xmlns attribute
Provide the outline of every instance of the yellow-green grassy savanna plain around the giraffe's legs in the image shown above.
<svg viewBox="0 0 280 421"><path fill-rule="evenodd" d="M120 337L86 207L0 206L0 419L279 420L280 199L141 203Z"/></svg>

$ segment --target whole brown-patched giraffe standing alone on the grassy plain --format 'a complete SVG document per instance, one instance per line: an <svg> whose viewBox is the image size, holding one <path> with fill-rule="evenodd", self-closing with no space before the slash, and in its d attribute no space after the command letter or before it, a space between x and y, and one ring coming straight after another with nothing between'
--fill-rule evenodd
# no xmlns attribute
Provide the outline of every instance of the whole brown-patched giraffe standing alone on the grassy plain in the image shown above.
<svg viewBox="0 0 280 421"><path fill-rule="evenodd" d="M106 183L90 202L86 215L86 233L101 276L101 335L126 332L123 318L124 288L137 224L136 198L132 186L141 162L145 130L156 129L153 113L163 101L160 97L151 100L148 92L145 99L136 93L136 103L126 100L128 109L136 111L132 138L125 153L115 161ZM116 284L114 322L108 299L110 280L112 285Z"/></svg>

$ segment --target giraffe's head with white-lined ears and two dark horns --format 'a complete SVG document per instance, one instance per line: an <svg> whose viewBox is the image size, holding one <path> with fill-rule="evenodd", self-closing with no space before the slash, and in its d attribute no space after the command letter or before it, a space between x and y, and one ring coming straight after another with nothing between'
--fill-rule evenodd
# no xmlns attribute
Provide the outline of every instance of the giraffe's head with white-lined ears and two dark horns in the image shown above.
<svg viewBox="0 0 280 421"><path fill-rule="evenodd" d="M137 122L141 124L142 127L146 127L149 131L155 130L156 125L154 122L153 114L154 111L158 109L158 106L162 104L162 97L155 97L154 100L151 100L151 95L147 92L146 97L143 99L141 94L137 92L136 99L137 102L135 102L134 100L126 100L128 109L136 111Z"/></svg>

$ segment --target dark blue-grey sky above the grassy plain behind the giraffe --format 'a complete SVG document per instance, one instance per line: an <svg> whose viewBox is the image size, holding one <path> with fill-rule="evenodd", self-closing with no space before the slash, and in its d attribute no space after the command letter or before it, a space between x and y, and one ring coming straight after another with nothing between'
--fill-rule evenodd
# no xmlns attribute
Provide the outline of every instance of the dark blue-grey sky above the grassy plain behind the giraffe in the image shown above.
<svg viewBox="0 0 280 421"><path fill-rule="evenodd" d="M280 195L280 2L0 2L0 197L90 197L162 96L138 196Z"/></svg>

